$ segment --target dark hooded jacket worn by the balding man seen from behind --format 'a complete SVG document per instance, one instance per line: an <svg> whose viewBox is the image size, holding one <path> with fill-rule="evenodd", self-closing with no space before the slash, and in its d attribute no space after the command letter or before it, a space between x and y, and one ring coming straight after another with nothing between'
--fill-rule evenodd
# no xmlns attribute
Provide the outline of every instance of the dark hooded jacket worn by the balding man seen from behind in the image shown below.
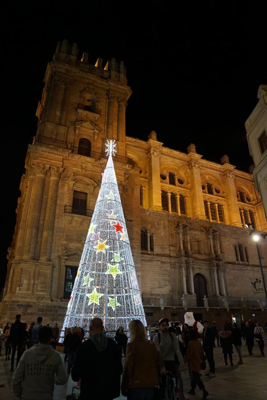
<svg viewBox="0 0 267 400"><path fill-rule="evenodd" d="M116 398L120 396L120 376L122 374L120 350L115 340L103 333L90 334L82 343L72 367L72 379L81 379L81 400Z"/></svg>

